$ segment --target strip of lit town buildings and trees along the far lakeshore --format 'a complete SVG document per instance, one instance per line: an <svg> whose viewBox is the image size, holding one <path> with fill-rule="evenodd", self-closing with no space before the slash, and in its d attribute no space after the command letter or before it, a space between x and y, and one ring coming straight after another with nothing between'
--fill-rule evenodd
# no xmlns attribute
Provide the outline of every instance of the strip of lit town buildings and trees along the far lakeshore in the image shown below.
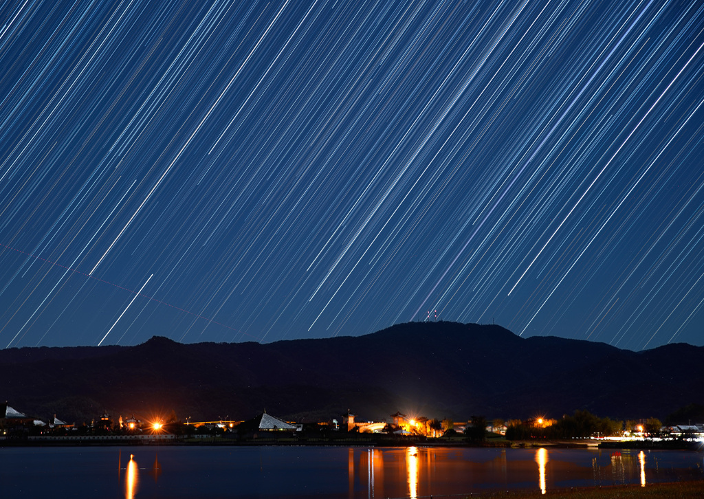
<svg viewBox="0 0 704 499"><path fill-rule="evenodd" d="M617 441L643 441L646 438L677 439L684 437L700 441L704 445L703 422L687 424L675 422L677 413L668 417L669 424L663 424L655 417L643 417L619 421L609 417L598 417L588 411L577 410L574 415L563 415L561 418L551 418L538 415L529 419L501 418L487 419L484 416L472 416L467 421L453 419L428 418L423 415L406 415L400 411L394 412L381 421L361 419L348 410L337 417L329 417L323 421L296 422L284 420L270 415L266 410L247 420L227 419L218 417L208 421L184 420L177 417L175 411L168 415L151 415L137 417L134 412L130 417L118 415L115 419L103 412L99 417L89 422L65 422L56 417L49 419L25 415L23 412L5 403L0 405L0 436L5 438L27 438L28 436L136 436L144 438L172 434L184 436L194 434L218 436L228 432L242 431L303 431L304 427L329 430L346 434L386 434L396 436L441 438L455 434L465 434L470 441L478 443L486 440L486 434L505 436L510 440L534 440L551 436L553 439L591 438L610 439ZM693 405L688 408L689 414L704 414L704 406ZM681 417L681 416L680 416ZM555 431L564 427L561 431Z"/></svg>

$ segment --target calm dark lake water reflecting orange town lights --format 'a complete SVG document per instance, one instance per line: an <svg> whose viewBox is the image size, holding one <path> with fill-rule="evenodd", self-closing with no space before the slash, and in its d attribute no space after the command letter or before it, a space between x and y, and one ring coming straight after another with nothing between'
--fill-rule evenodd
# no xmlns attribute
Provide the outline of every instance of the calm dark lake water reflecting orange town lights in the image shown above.
<svg viewBox="0 0 704 499"><path fill-rule="evenodd" d="M703 467L704 453L684 450L0 448L0 488L8 498L439 498L681 480L704 488Z"/></svg>

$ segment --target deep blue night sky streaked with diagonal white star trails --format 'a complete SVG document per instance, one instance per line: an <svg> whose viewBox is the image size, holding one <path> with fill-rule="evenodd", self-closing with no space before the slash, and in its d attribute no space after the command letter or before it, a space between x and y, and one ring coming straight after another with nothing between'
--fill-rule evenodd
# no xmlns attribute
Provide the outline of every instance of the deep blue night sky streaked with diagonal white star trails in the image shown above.
<svg viewBox="0 0 704 499"><path fill-rule="evenodd" d="M6 1L0 348L702 345L704 4Z"/></svg>

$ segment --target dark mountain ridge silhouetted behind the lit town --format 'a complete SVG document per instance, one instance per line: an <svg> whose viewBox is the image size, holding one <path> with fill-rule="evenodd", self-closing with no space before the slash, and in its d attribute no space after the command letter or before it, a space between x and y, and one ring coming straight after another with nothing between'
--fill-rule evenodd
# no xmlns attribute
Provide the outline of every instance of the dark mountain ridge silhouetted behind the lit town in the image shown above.
<svg viewBox="0 0 704 499"><path fill-rule="evenodd" d="M358 337L0 350L0 398L38 417L108 411L191 421L249 419L264 408L298 420L397 410L561 417L660 417L702 402L704 347L632 352L605 343L520 338L495 325L410 322Z"/></svg>

